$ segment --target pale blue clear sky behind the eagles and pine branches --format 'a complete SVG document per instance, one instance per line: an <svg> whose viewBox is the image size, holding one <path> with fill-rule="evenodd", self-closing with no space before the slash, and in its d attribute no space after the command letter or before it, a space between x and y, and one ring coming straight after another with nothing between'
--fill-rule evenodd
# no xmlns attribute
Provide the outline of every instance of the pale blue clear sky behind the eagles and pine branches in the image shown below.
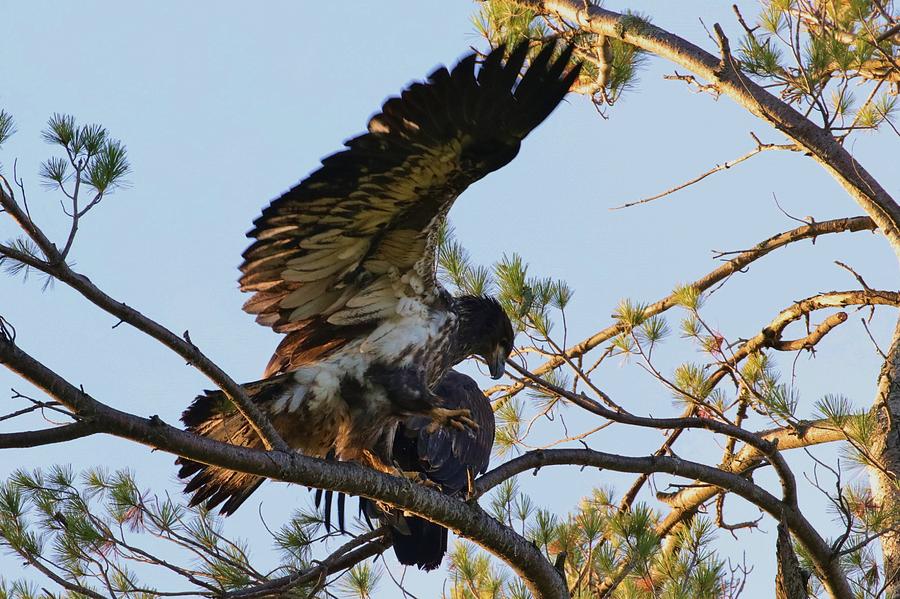
<svg viewBox="0 0 900 599"><path fill-rule="evenodd" d="M754 13L755 3L741 4L745 14ZM36 177L49 151L39 135L47 118L70 113L80 122L103 123L121 138L133 164L130 188L90 214L72 259L114 297L174 331L189 329L192 340L238 380L258 378L277 343L240 309L236 267L251 221L320 157L361 131L385 97L435 65L453 62L470 45L484 47L470 22L475 4L464 0L2 6L0 107L14 115L18 127L0 152L4 172L18 158L32 213L59 238L65 222L57 197ZM707 48L713 44L697 16L707 25L721 22L735 39L739 33L730 3L617 1L610 7L642 10ZM746 248L792 228L796 223L778 211L773 194L801 217L861 213L811 160L783 153L754 158L656 205L609 211L743 154L753 147L750 131L763 141L782 141L728 99L714 101L662 80L672 70L651 60L637 90L609 111L609 120L584 98L571 97L528 138L513 163L464 194L451 213L460 241L477 261L515 251L530 263L531 273L569 282L575 289L567 312L570 341L606 326L622 297L652 301L705 274L716 266L710 250ZM900 191L897 145L893 134L861 136L850 145L894 194ZM15 234L0 219L0 237ZM708 302L707 319L731 339L749 337L792 300L851 288L855 282L834 266L836 259L857 268L873 287L896 287L896 263L879 237L831 236L754 264ZM40 287L35 280L23 285L0 278L0 313L16 326L26 350L98 399L174 423L198 390L209 386L156 342L125 326L112 329L115 319L64 286L46 293ZM892 322L885 313L873 323L883 344ZM676 319L670 324L677 329ZM674 341L658 357L669 370L678 361L702 359L686 356L684 345ZM854 316L829 335L815 360L798 360L801 410L829 392L870 404L877 369L873 347ZM598 383L636 412L677 410L669 393L634 364L611 364ZM0 371L0 389L10 387L29 389ZM21 407L7 397L0 394L0 404L6 402L0 413ZM576 430L595 425L572 410L566 414ZM658 432L612 427L591 445L646 455L661 441ZM709 438L700 435L677 449L715 463L717 451L709 450ZM835 459L833 452L818 454ZM19 466L103 464L135 468L142 486L177 492L171 461L131 443L93 438L7 451L0 456L0 475ZM791 461L798 477L810 471L808 460ZM562 510L597 485L621 492L631 478L572 468L523 482L538 504ZM771 483L765 475L758 480ZM228 530L252 539L260 502L272 526L307 497L303 489L267 484L228 521ZM645 499L663 507L649 494ZM810 517L827 522L814 492L806 490L801 500ZM756 513L738 500L730 506L733 519ZM773 530L767 520L762 532L743 532L738 540L720 535L726 555L740 559L746 551L756 564L746 596L771 592ZM18 571L16 560L0 558L0 572ZM437 596L443 578L441 572L408 577L411 590L423 598ZM397 596L387 577L378 596Z"/></svg>

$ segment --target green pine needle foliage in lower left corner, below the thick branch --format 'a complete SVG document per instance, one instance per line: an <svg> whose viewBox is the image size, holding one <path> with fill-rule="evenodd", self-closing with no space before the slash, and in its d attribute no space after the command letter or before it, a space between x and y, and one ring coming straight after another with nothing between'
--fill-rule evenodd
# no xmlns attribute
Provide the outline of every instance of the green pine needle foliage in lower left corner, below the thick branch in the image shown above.
<svg viewBox="0 0 900 599"><path fill-rule="evenodd" d="M0 485L0 546L81 589L78 596L223 596L309 568L321 526L318 515L297 511L272 533L281 563L259 569L249 543L229 538L221 517L141 490L129 471L79 475L54 466L18 470ZM181 586L160 588L154 581L163 573ZM294 586L290 596L305 597L311 588ZM49 594L57 596L66 595ZM0 583L0 599L38 597L48 599L48 592L26 580Z"/></svg>

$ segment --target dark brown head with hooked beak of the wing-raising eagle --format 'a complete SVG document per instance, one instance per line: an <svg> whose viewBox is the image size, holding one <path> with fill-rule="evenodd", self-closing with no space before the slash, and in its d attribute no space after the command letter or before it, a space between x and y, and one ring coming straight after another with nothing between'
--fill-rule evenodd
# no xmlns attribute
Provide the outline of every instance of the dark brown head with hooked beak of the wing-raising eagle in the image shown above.
<svg viewBox="0 0 900 599"><path fill-rule="evenodd" d="M480 356L487 362L491 378L499 379L515 338L509 316L492 297L464 295L455 298L453 303L459 315L457 362L471 355Z"/></svg>

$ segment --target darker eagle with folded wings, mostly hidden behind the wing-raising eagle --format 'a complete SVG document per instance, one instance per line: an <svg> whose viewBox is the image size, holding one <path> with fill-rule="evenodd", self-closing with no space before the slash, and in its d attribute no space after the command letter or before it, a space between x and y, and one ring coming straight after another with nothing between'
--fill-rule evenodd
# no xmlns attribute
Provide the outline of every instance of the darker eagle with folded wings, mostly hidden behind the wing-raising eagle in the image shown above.
<svg viewBox="0 0 900 599"><path fill-rule="evenodd" d="M406 472L418 472L428 484L452 496L462 495L469 476L487 470L494 445L494 412L484 393L471 377L450 370L434 389L447 408L469 410L478 424L474 433L453 428L434 430L427 418L414 416L400 422L394 435L392 458ZM316 504L323 498L316 495ZM331 521L331 493L324 493L325 525ZM396 510L384 514L372 502L360 498L360 512L391 526L394 553L405 566L434 570L447 553L447 529L417 516ZM338 496L338 518L344 530L344 497Z"/></svg>

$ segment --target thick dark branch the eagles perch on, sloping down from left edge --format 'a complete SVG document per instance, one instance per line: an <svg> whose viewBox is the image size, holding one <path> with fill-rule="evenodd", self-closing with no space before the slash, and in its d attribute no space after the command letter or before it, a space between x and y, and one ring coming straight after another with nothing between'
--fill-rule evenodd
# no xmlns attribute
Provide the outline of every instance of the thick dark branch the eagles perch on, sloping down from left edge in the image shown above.
<svg viewBox="0 0 900 599"><path fill-rule="evenodd" d="M130 439L204 464L319 489L332 489L390 504L457 531L522 577L539 599L568 597L565 580L541 551L468 504L406 479L350 462L325 461L296 452L262 451L213 441L169 426L158 416L116 410L73 386L8 338L0 337L0 363L95 423L102 432Z"/></svg>

